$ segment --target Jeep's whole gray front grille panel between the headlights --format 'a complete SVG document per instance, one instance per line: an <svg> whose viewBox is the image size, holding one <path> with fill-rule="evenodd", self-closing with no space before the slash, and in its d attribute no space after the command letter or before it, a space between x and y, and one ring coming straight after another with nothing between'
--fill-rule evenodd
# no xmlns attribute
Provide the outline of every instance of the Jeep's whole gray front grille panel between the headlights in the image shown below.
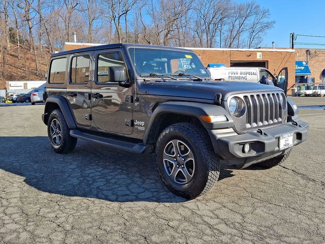
<svg viewBox="0 0 325 244"><path fill-rule="evenodd" d="M233 117L235 127L239 132L282 124L286 120L286 111L283 111L280 102L281 92L235 96L242 98L246 105L246 113L243 117Z"/></svg>

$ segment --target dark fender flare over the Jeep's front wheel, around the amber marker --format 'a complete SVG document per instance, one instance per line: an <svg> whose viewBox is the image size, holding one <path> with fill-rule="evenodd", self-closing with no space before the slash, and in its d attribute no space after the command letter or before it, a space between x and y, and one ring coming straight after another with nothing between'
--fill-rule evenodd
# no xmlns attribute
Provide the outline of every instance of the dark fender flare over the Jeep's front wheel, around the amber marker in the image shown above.
<svg viewBox="0 0 325 244"><path fill-rule="evenodd" d="M234 126L233 119L223 107L206 104L206 103L196 103L196 102L165 102L159 104L153 111L148 127L143 136L144 144L147 143L149 134L155 129L159 117L166 113L175 113L196 117L200 120L201 124L206 129L221 129L221 128L231 128ZM201 115L218 115L224 114L228 121L217 122L217 123L207 123L201 119Z"/></svg>

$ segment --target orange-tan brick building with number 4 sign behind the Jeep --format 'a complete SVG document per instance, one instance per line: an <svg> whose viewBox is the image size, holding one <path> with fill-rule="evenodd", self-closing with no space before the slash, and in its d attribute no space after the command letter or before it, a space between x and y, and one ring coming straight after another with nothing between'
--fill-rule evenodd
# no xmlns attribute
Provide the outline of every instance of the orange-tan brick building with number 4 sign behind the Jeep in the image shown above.
<svg viewBox="0 0 325 244"><path fill-rule="evenodd" d="M66 43L65 50L96 46L100 44ZM288 68L288 93L295 85L295 50L292 49L228 49L228 48L188 48L193 50L202 63L224 64L226 67L264 67L275 76L283 67Z"/></svg>

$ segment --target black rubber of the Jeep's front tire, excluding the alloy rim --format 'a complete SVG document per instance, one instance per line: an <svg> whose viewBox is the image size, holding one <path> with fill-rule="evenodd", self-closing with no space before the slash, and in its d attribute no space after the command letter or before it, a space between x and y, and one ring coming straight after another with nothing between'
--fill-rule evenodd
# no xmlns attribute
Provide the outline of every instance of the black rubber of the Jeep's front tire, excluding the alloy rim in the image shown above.
<svg viewBox="0 0 325 244"><path fill-rule="evenodd" d="M193 199L208 192L219 178L220 158L214 153L209 135L204 128L191 123L178 123L161 132L156 143L156 163L159 175L174 194ZM195 170L186 184L171 179L164 166L164 150L171 140L185 142L194 158Z"/></svg>

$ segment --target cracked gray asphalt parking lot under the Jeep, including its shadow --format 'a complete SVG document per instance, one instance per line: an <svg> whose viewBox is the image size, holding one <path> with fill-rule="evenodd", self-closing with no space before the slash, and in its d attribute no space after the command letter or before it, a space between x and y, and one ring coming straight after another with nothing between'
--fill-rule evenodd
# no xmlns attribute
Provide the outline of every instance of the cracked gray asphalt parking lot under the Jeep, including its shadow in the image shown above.
<svg viewBox="0 0 325 244"><path fill-rule="evenodd" d="M154 156L82 140L55 154L43 109L0 107L0 243L325 243L325 110L300 111L309 137L284 164L223 168L187 201Z"/></svg>

